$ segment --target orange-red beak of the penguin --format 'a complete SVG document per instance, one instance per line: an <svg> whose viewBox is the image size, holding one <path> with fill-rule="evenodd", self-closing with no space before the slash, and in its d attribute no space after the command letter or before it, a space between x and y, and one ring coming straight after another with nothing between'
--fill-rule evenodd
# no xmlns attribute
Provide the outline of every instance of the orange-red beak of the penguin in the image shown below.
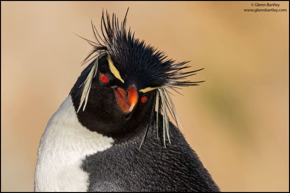
<svg viewBox="0 0 290 193"><path fill-rule="evenodd" d="M127 93L124 89L118 87L115 90L115 96L124 113L131 113L138 102L138 92L133 86L129 88Z"/></svg>

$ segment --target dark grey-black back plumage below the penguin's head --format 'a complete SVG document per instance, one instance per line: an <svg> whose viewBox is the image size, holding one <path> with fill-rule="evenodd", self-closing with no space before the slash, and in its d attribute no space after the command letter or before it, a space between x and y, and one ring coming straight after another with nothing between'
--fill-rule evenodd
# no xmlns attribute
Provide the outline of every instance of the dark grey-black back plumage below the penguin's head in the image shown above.
<svg viewBox="0 0 290 193"><path fill-rule="evenodd" d="M152 128L140 150L137 147L142 135L88 156L82 166L90 173L88 191L219 192L197 154L172 123L170 132L172 145L166 148L156 140Z"/></svg>

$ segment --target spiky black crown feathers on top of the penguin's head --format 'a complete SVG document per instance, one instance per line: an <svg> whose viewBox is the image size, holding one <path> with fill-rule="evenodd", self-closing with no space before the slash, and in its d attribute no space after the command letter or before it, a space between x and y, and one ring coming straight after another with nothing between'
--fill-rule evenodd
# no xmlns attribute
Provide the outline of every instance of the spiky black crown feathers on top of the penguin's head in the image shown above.
<svg viewBox="0 0 290 193"><path fill-rule="evenodd" d="M87 40L93 46L93 50L88 54L85 62L95 53L105 51L112 59L116 69L127 85L137 82L138 89L147 87L170 87L198 85L198 82L186 80L185 78L194 75L196 71L183 72L189 68L186 65L189 61L176 62L168 59L163 51L157 50L153 46L146 44L144 40L135 37L129 29L126 30L126 12L124 20L119 25L116 15L112 18L108 12L103 12L101 20L100 35L94 24L93 33L96 42ZM93 57L92 57L93 58ZM126 86L126 85L125 85Z"/></svg>

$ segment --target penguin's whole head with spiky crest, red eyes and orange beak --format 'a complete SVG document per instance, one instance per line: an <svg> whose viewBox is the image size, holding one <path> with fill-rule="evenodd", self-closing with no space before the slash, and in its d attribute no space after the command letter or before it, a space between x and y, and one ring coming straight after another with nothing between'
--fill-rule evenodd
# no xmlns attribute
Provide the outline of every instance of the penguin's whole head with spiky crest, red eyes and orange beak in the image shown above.
<svg viewBox="0 0 290 193"><path fill-rule="evenodd" d="M92 24L96 41L84 38L93 46L84 63L92 62L70 93L81 124L119 141L154 124L168 131L170 114L178 126L169 90L203 82L185 79L202 69L183 72L189 68L187 61L168 59L164 52L127 31L127 13L119 25L115 14L111 19L103 12L101 33ZM153 119L155 111L163 115L164 126Z"/></svg>

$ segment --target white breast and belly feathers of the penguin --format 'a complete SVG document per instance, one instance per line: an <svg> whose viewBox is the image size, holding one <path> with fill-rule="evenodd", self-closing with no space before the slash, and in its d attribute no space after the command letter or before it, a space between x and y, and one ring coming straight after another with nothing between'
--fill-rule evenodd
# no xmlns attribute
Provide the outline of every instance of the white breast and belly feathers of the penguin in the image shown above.
<svg viewBox="0 0 290 193"><path fill-rule="evenodd" d="M82 160L112 146L114 140L89 131L77 119L71 96L61 104L42 135L35 169L35 192L86 192Z"/></svg>

